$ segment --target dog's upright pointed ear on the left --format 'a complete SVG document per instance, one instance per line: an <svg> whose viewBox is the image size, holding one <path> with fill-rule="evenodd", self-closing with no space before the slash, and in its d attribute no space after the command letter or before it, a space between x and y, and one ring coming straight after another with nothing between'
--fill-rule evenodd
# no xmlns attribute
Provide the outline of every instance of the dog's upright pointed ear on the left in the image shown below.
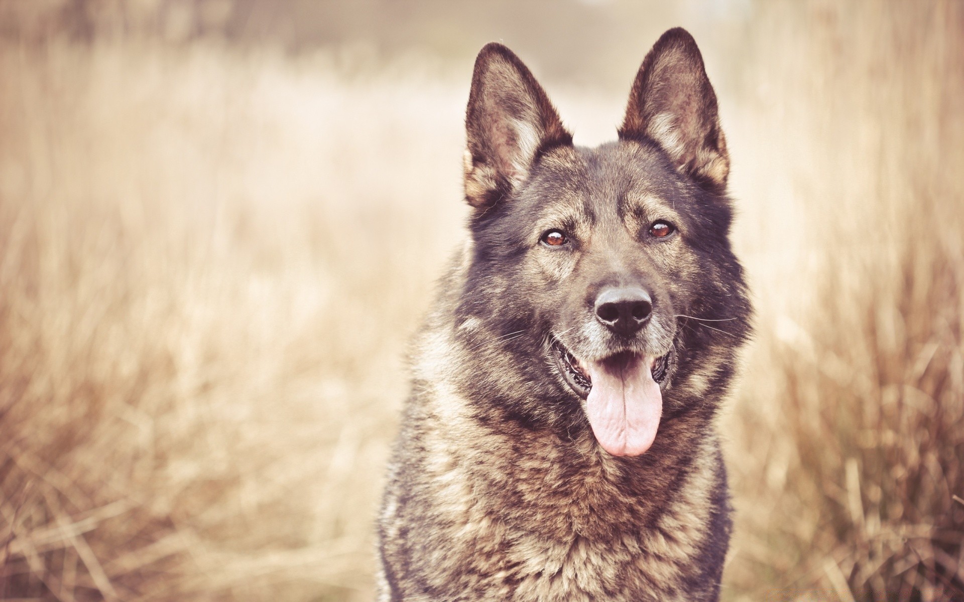
<svg viewBox="0 0 964 602"><path fill-rule="evenodd" d="M466 131L466 199L483 210L511 195L550 148L573 144L532 73L497 43L475 59Z"/></svg>

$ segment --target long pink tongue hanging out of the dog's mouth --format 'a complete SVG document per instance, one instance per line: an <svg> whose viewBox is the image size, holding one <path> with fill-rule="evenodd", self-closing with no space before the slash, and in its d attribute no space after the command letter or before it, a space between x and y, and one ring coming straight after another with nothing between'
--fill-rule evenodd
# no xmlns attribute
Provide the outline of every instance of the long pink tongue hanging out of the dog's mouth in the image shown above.
<svg viewBox="0 0 964 602"><path fill-rule="evenodd" d="M653 445L662 393L652 365L652 357L629 354L586 362L593 382L586 398L589 424L613 456L639 456Z"/></svg>

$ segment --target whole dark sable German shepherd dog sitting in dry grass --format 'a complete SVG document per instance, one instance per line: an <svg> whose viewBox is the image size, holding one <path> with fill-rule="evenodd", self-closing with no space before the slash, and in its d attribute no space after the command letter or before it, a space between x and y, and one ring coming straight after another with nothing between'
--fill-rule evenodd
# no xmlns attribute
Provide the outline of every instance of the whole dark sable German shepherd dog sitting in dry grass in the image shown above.
<svg viewBox="0 0 964 602"><path fill-rule="evenodd" d="M488 44L466 125L469 236L415 340L380 599L717 600L714 422L751 309L696 42L656 41L597 148Z"/></svg>

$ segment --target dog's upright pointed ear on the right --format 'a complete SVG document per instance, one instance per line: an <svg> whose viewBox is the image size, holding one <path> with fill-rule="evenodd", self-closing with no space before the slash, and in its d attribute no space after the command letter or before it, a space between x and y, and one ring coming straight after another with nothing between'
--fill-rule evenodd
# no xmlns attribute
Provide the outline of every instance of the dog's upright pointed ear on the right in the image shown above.
<svg viewBox="0 0 964 602"><path fill-rule="evenodd" d="M619 138L653 141L677 170L713 192L726 190L730 156L716 94L696 40L683 28L663 34L639 67Z"/></svg>

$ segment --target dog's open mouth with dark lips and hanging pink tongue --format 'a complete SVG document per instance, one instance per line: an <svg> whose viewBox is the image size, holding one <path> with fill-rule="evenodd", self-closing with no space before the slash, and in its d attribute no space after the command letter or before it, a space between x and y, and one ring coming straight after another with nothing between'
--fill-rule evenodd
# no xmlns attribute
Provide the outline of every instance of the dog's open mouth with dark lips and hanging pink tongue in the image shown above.
<svg viewBox="0 0 964 602"><path fill-rule="evenodd" d="M586 400L586 417L603 450L639 456L650 449L662 416L659 384L669 375L674 351L659 357L626 351L589 361L555 338L551 349L564 380Z"/></svg>

